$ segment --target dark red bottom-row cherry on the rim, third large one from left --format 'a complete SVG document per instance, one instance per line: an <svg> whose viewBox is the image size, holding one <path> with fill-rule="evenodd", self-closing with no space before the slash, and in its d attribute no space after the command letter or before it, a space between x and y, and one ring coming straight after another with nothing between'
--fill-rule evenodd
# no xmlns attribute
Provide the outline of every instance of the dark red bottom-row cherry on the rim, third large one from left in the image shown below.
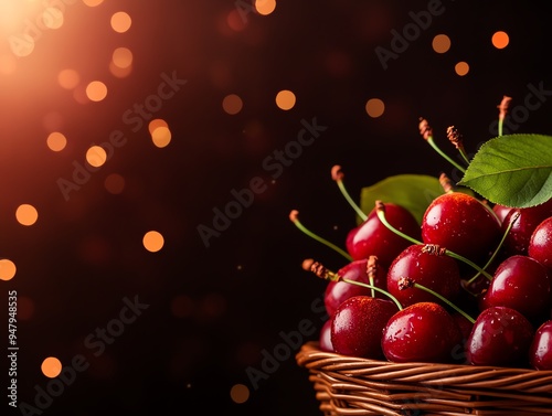
<svg viewBox="0 0 552 416"><path fill-rule="evenodd" d="M528 366L533 327L516 309L489 307L477 317L466 342L474 365Z"/></svg>

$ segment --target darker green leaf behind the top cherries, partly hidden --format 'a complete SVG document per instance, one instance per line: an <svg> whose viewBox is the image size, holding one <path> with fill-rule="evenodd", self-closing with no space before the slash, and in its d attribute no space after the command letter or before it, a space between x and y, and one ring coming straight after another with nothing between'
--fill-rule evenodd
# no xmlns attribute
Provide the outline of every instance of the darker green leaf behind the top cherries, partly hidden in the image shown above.
<svg viewBox="0 0 552 416"><path fill-rule="evenodd" d="M397 174L363 188L360 193L360 207L368 214L375 206L376 200L394 203L408 210L421 224L429 203L443 193L438 178Z"/></svg>

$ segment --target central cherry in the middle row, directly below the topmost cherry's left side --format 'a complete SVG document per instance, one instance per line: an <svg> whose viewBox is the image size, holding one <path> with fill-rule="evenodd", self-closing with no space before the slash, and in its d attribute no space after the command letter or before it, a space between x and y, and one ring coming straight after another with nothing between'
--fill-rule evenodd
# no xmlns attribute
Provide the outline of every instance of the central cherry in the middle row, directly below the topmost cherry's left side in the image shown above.
<svg viewBox="0 0 552 416"><path fill-rule="evenodd" d="M423 244L411 245L396 256L388 270L388 291L403 307L423 301L440 302L422 289L403 289L401 280L404 277L435 290L448 300L454 300L461 289L458 263L447 255L427 253Z"/></svg>

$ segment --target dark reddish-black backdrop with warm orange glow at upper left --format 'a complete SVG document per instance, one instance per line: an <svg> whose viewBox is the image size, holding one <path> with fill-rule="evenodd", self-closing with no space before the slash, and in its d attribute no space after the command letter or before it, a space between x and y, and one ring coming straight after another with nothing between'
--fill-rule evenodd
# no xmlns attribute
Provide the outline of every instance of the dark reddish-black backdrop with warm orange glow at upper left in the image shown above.
<svg viewBox="0 0 552 416"><path fill-rule="evenodd" d="M391 50L392 31L401 33L412 22L408 13L428 4L280 0L269 15L253 12L250 0L66 6L64 26L45 32L32 55L18 58L15 73L0 74L0 257L18 266L12 280L0 281L1 297L7 305L8 291L17 290L25 299L19 403L34 405L36 386L46 388L44 358L71 365L83 354L89 367L44 415L320 414L308 374L295 362L297 345L286 350L282 333L304 320L318 331L322 322L316 305L325 282L301 270L302 259L332 269L343 259L301 234L290 210L342 246L355 216L331 180L332 166L343 167L354 198L388 175L450 172L421 139L418 117L429 120L444 149L450 150L446 128L455 125L474 152L495 136L503 95L516 107L524 106L530 84L552 89L550 15L539 2L443 0L444 12L384 70L375 49ZM109 29L119 10L132 18L124 34ZM229 15L240 30L229 26ZM505 50L491 44L499 30L510 36ZM452 40L445 54L432 50L439 33ZM134 52L134 70L116 79L107 63L120 45ZM9 53L7 43L1 47ZM470 65L466 76L455 73L458 61ZM63 67L77 68L83 82L105 79L107 98L76 103L56 84ZM172 131L171 143L158 149L146 127L132 132L121 115L157 92L162 73L187 84L155 114ZM297 96L293 109L275 105L280 89ZM222 108L227 94L243 99L237 115ZM380 118L364 109L372 97L385 103ZM551 109L545 95L516 131L550 134ZM264 160L296 140L302 119L314 118L327 130L270 182L274 171ZM66 135L64 151L45 146L45 120ZM128 142L65 201L59 179L71 179L72 163L84 163L91 143L117 129ZM125 178L121 194L106 192L109 173ZM256 177L267 190L206 247L198 226L212 227L213 209L224 210L231 191L247 189ZM15 221L21 203L39 210L35 225ZM149 230L164 237L158 253L141 244ZM149 307L94 356L86 337L118 318L124 299L135 296ZM6 328L7 314L0 319ZM263 371L275 350L289 354L255 386L248 372ZM7 385L7 371L0 377ZM250 390L246 403L231 399L236 384Z"/></svg>

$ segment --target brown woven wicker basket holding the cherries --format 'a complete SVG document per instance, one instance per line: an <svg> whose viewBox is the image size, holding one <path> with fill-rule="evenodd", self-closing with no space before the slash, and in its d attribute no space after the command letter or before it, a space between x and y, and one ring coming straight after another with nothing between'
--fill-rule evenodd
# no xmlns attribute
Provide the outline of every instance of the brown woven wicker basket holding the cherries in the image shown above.
<svg viewBox="0 0 552 416"><path fill-rule="evenodd" d="M296 355L320 410L337 415L552 415L552 371L392 363L323 352Z"/></svg>

